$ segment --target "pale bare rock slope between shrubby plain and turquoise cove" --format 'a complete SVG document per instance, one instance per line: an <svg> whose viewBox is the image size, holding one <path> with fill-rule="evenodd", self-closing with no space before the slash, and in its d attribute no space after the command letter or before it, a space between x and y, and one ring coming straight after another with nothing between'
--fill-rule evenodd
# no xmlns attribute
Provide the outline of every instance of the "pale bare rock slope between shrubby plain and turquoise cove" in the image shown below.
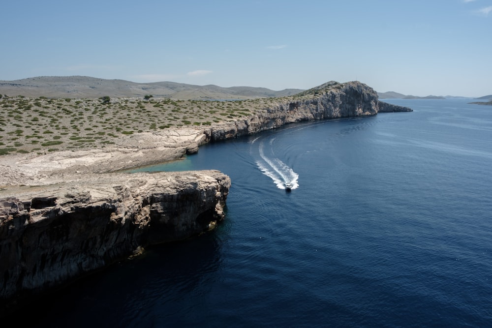
<svg viewBox="0 0 492 328"><path fill-rule="evenodd" d="M137 133L104 149L5 154L0 156L0 187L89 179L94 174L172 161L204 141L203 130L177 128Z"/></svg>

